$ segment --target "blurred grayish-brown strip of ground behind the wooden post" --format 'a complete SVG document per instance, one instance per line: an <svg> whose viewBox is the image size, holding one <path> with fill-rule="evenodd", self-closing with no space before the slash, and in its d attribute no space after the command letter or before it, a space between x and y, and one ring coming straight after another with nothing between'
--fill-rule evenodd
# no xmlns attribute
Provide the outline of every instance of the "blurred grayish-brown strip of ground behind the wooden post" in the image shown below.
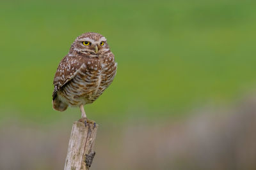
<svg viewBox="0 0 256 170"><path fill-rule="evenodd" d="M172 120L100 125L93 169L256 169L256 98ZM0 169L63 169L72 124L2 122Z"/></svg>

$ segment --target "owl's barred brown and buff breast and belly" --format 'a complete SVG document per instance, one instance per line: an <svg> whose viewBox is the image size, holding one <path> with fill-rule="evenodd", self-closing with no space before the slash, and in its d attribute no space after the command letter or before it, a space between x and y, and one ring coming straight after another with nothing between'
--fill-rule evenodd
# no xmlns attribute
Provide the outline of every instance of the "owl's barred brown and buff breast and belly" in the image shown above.
<svg viewBox="0 0 256 170"><path fill-rule="evenodd" d="M63 88L62 96L72 106L93 103L112 83L116 65L113 56L86 60L76 76Z"/></svg>

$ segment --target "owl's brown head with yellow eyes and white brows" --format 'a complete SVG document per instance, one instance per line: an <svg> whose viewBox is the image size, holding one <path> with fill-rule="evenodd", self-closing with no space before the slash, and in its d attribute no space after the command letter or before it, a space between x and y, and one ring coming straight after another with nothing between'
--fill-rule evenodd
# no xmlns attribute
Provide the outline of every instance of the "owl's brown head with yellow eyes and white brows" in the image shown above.
<svg viewBox="0 0 256 170"><path fill-rule="evenodd" d="M95 32L86 32L78 36L71 48L76 52L94 55L109 51L107 39Z"/></svg>

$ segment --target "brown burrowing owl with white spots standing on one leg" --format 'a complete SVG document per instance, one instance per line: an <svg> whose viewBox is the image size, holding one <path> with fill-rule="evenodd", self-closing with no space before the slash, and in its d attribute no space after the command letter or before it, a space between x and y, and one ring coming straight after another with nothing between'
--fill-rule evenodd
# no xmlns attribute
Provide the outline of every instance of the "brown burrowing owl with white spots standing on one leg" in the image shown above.
<svg viewBox="0 0 256 170"><path fill-rule="evenodd" d="M95 32L78 36L54 76L54 110L79 106L82 118L86 118L84 104L93 103L112 83L116 65L104 36Z"/></svg>

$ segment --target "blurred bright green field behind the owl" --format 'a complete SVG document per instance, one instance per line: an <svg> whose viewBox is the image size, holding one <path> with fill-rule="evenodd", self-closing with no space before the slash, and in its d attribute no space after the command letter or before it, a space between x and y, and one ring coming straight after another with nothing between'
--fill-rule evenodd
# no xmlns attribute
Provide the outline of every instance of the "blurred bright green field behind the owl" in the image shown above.
<svg viewBox="0 0 256 170"><path fill-rule="evenodd" d="M256 84L256 1L2 1L1 116L79 118L52 110L52 80L83 32L108 38L113 84L88 117L169 117L230 103ZM76 113L76 114L74 114Z"/></svg>

